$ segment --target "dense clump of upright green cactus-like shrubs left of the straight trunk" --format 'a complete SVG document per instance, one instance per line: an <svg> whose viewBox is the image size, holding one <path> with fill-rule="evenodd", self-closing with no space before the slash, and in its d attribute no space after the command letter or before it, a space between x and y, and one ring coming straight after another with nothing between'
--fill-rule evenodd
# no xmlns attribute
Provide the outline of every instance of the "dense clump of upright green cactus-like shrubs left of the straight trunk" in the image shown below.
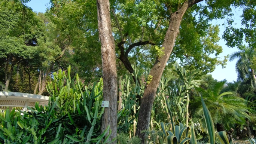
<svg viewBox="0 0 256 144"><path fill-rule="evenodd" d="M53 82L47 85L51 95L48 105L36 103L27 112L7 109L4 117L0 116L0 143L106 143L103 137L109 127L100 134L102 79L89 90L78 74L71 80L70 70L68 67L67 74L61 70L54 73Z"/></svg>

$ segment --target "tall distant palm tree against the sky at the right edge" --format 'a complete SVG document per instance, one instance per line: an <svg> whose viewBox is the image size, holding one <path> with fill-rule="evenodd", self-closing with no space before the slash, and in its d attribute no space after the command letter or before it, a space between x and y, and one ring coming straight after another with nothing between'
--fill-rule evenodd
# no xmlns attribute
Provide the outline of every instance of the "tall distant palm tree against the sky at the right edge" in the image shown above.
<svg viewBox="0 0 256 144"><path fill-rule="evenodd" d="M255 70L251 68L252 60L256 55L255 50L246 45L240 45L238 49L240 49L240 51L232 53L229 59L229 61L233 61L238 58L235 65L238 74L237 80L245 81L250 79L256 88Z"/></svg>

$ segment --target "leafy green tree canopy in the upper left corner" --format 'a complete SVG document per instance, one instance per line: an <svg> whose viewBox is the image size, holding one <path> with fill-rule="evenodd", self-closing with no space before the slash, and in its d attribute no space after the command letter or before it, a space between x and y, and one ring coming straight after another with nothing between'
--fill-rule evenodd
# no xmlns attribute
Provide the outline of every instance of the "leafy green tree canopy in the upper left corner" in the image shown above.
<svg viewBox="0 0 256 144"><path fill-rule="evenodd" d="M0 27L0 65L7 91L14 66L35 56L34 46L45 26L21 1L4 0L0 2Z"/></svg>

